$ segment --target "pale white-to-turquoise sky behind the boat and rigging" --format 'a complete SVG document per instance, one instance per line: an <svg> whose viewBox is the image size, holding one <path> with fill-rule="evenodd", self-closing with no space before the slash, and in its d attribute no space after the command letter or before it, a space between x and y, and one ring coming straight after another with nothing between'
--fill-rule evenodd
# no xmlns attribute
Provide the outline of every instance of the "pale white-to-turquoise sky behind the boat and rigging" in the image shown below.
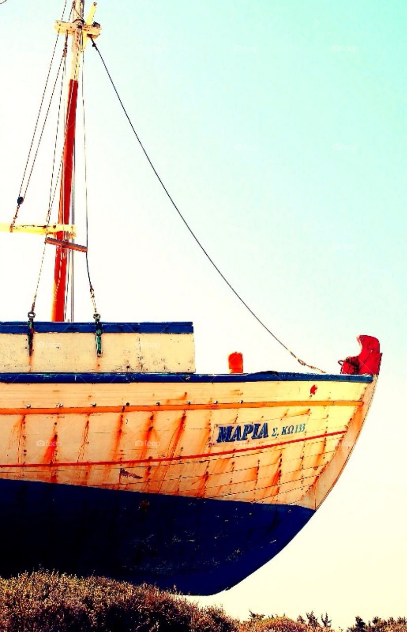
<svg viewBox="0 0 407 632"><path fill-rule="evenodd" d="M62 5L0 5L0 222L15 211ZM100 0L95 20L156 169L259 317L329 372L357 353L358 334L379 337L384 353L360 440L316 516L257 573L200 602L240 617L327 611L343 627L357 614L406 615L407 5ZM244 353L247 371L300 370L192 241L90 46L85 103L102 319L192 320L198 372L226 372L231 351ZM50 114L21 221L45 221L54 134ZM80 181L77 190L83 227ZM41 238L0 234L0 320L26 319L41 253ZM76 320L90 320L76 261ZM45 264L40 320L49 319L52 250Z"/></svg>

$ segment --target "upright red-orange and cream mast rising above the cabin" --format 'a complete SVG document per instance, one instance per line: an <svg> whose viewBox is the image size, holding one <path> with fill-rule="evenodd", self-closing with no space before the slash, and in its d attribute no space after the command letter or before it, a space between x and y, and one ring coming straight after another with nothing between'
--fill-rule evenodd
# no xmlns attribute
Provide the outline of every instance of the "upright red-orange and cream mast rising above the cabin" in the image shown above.
<svg viewBox="0 0 407 632"><path fill-rule="evenodd" d="M73 159L76 130L76 102L78 100L78 77L80 69L81 52L85 50L88 36L98 37L100 25L93 23L96 3L92 3L90 13L85 22L83 11L85 0L74 0L72 6L72 21L56 21L55 28L58 33L68 33L72 37L72 61L68 84L68 102L66 109L65 140L62 157L61 188L59 190L58 224L69 224L71 217L71 194L73 179ZM61 231L56 234L55 267L54 267L54 293L52 299L52 321L63 321L65 318L66 303L66 268L68 264L69 233Z"/></svg>

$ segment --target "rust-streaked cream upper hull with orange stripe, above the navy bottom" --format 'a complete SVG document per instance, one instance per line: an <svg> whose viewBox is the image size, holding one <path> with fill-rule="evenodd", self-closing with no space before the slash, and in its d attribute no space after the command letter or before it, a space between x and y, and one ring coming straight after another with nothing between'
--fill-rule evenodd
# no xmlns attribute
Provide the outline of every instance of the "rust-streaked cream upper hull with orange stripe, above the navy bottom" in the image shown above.
<svg viewBox="0 0 407 632"><path fill-rule="evenodd" d="M317 509L377 378L315 379L0 382L0 477Z"/></svg>

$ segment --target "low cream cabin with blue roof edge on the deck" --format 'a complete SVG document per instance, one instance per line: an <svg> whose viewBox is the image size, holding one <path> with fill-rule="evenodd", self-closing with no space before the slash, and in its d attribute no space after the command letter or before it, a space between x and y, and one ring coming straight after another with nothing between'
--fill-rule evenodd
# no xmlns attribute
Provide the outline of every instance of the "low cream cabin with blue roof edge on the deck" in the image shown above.
<svg viewBox="0 0 407 632"><path fill-rule="evenodd" d="M194 373L191 322L102 323L97 354L94 323L0 323L0 373Z"/></svg>

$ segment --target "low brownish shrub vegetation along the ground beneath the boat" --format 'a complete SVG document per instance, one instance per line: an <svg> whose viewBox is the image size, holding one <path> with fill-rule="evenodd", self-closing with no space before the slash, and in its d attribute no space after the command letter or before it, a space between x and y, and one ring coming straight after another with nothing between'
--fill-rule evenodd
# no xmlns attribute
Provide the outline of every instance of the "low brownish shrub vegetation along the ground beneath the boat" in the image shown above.
<svg viewBox="0 0 407 632"><path fill-rule="evenodd" d="M103 577L49 571L0 578L0 632L323 632L327 613L297 621L255 614L247 621L199 607L182 595ZM407 619L356 617L347 632L407 632Z"/></svg>

